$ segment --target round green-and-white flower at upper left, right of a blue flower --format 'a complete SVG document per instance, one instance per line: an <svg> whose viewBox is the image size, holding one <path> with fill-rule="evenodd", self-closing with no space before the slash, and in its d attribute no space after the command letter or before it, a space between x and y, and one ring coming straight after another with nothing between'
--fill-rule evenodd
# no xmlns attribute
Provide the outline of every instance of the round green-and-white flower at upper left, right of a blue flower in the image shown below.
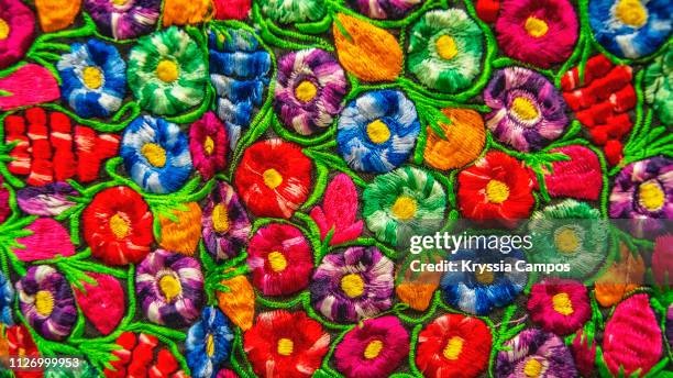
<svg viewBox="0 0 673 378"><path fill-rule="evenodd" d="M144 36L129 55L129 87L142 108L172 115L203 101L203 53L189 35L173 26Z"/></svg>

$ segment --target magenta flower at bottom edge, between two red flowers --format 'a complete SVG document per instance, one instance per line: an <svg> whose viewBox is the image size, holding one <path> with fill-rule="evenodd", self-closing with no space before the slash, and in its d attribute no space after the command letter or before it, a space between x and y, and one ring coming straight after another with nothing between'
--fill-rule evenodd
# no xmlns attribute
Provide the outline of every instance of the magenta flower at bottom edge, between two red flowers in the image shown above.
<svg viewBox="0 0 673 378"><path fill-rule="evenodd" d="M349 378L387 377L409 355L409 333L395 316L367 319L336 345L336 369Z"/></svg>

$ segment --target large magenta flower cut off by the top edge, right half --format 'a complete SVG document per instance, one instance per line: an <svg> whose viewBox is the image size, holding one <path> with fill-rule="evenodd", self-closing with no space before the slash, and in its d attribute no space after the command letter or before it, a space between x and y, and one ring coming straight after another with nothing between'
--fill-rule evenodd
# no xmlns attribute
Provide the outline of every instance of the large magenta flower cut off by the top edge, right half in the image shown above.
<svg viewBox="0 0 673 378"><path fill-rule="evenodd" d="M567 0L504 0L496 21L505 54L542 68L570 57L578 30L577 14Z"/></svg>

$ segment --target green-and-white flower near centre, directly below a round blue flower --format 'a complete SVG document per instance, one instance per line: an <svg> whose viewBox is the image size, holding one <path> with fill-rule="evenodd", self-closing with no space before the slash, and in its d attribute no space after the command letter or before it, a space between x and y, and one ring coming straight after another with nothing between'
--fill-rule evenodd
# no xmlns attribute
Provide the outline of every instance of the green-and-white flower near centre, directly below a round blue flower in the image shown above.
<svg viewBox="0 0 673 378"><path fill-rule="evenodd" d="M376 176L363 193L367 227L383 242L405 245L411 235L442 226L446 198L432 175L401 167Z"/></svg>

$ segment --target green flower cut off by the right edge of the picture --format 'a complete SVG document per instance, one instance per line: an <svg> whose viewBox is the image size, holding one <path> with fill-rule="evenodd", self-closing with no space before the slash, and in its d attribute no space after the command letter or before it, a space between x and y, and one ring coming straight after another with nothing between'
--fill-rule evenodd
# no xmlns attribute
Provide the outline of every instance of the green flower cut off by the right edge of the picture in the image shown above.
<svg viewBox="0 0 673 378"><path fill-rule="evenodd" d="M663 124L673 124L673 48L671 45L646 69L646 100Z"/></svg>

